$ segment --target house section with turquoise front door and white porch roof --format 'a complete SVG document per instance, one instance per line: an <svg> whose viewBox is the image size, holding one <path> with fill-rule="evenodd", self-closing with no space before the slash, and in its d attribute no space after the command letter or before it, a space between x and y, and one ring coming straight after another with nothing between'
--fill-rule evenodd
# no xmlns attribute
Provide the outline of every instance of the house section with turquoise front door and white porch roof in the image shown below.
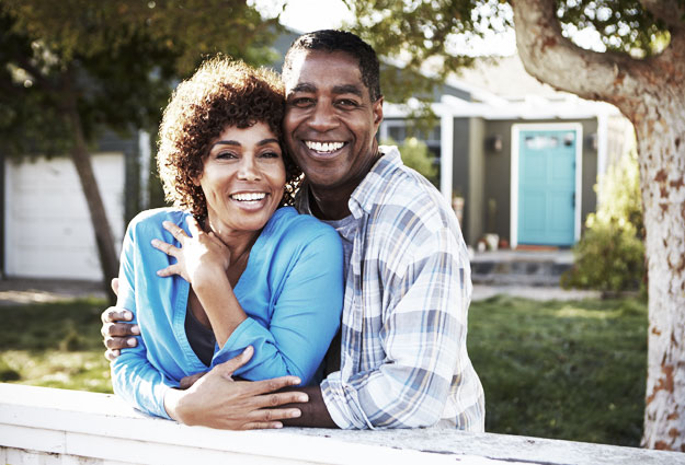
<svg viewBox="0 0 685 465"><path fill-rule="evenodd" d="M629 123L612 105L539 83L517 56L484 58L445 88L425 141L439 160L437 187L464 199L467 243L488 233L511 247L578 242L596 209L597 176L625 150ZM387 104L380 139L401 141L407 115Z"/></svg>

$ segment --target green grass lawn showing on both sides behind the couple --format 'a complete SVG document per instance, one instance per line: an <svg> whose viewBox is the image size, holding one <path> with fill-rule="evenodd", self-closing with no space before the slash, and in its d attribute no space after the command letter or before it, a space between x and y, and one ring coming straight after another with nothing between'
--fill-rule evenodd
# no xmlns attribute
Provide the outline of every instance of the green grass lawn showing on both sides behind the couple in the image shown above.
<svg viewBox="0 0 685 465"><path fill-rule="evenodd" d="M0 381L112 392L104 301L3 306ZM495 297L469 314L490 432L639 445L647 307L637 300Z"/></svg>

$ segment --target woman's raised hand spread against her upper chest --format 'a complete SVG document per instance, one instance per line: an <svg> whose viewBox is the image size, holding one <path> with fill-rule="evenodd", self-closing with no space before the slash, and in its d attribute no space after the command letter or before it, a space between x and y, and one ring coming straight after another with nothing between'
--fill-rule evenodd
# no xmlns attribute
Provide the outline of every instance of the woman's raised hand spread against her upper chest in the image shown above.
<svg viewBox="0 0 685 465"><path fill-rule="evenodd" d="M152 246L167 255L171 255L176 263L157 271L158 276L169 277L180 275L191 284L203 276L214 277L217 272L226 271L230 265L230 251L214 232L206 233L194 218L187 221L192 236L171 221L162 225L181 243L175 247L160 240L152 240Z"/></svg>

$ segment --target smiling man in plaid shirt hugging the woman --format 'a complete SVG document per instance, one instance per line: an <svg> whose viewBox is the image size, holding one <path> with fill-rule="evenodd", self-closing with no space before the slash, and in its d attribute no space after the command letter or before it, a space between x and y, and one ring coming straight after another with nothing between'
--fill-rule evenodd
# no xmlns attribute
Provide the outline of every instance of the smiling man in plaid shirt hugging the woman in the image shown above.
<svg viewBox="0 0 685 465"><path fill-rule="evenodd" d="M306 175L298 209L338 230L349 263L340 369L320 386L297 388L308 402L270 411L262 408L265 403L282 406L294 398L225 377L218 388L213 372L230 374L244 362L229 361L184 394L193 418L212 415L221 404L225 411L244 411L251 428L279 427L283 420L483 430L483 392L466 350L471 293L466 245L437 190L402 165L397 148L377 144L378 68L373 48L357 36L318 31L293 44L283 69L285 141ZM130 334L106 323L119 317L116 310L105 311L103 334ZM119 349L126 341L105 344Z"/></svg>

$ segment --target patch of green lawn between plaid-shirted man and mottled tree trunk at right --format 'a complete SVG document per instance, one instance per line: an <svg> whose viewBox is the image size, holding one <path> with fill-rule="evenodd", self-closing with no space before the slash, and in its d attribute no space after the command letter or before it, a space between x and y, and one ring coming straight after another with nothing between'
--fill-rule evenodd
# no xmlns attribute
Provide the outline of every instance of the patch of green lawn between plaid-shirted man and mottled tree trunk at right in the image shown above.
<svg viewBox="0 0 685 465"><path fill-rule="evenodd" d="M647 304L495 297L469 313L469 356L486 391L486 430L638 446Z"/></svg>

